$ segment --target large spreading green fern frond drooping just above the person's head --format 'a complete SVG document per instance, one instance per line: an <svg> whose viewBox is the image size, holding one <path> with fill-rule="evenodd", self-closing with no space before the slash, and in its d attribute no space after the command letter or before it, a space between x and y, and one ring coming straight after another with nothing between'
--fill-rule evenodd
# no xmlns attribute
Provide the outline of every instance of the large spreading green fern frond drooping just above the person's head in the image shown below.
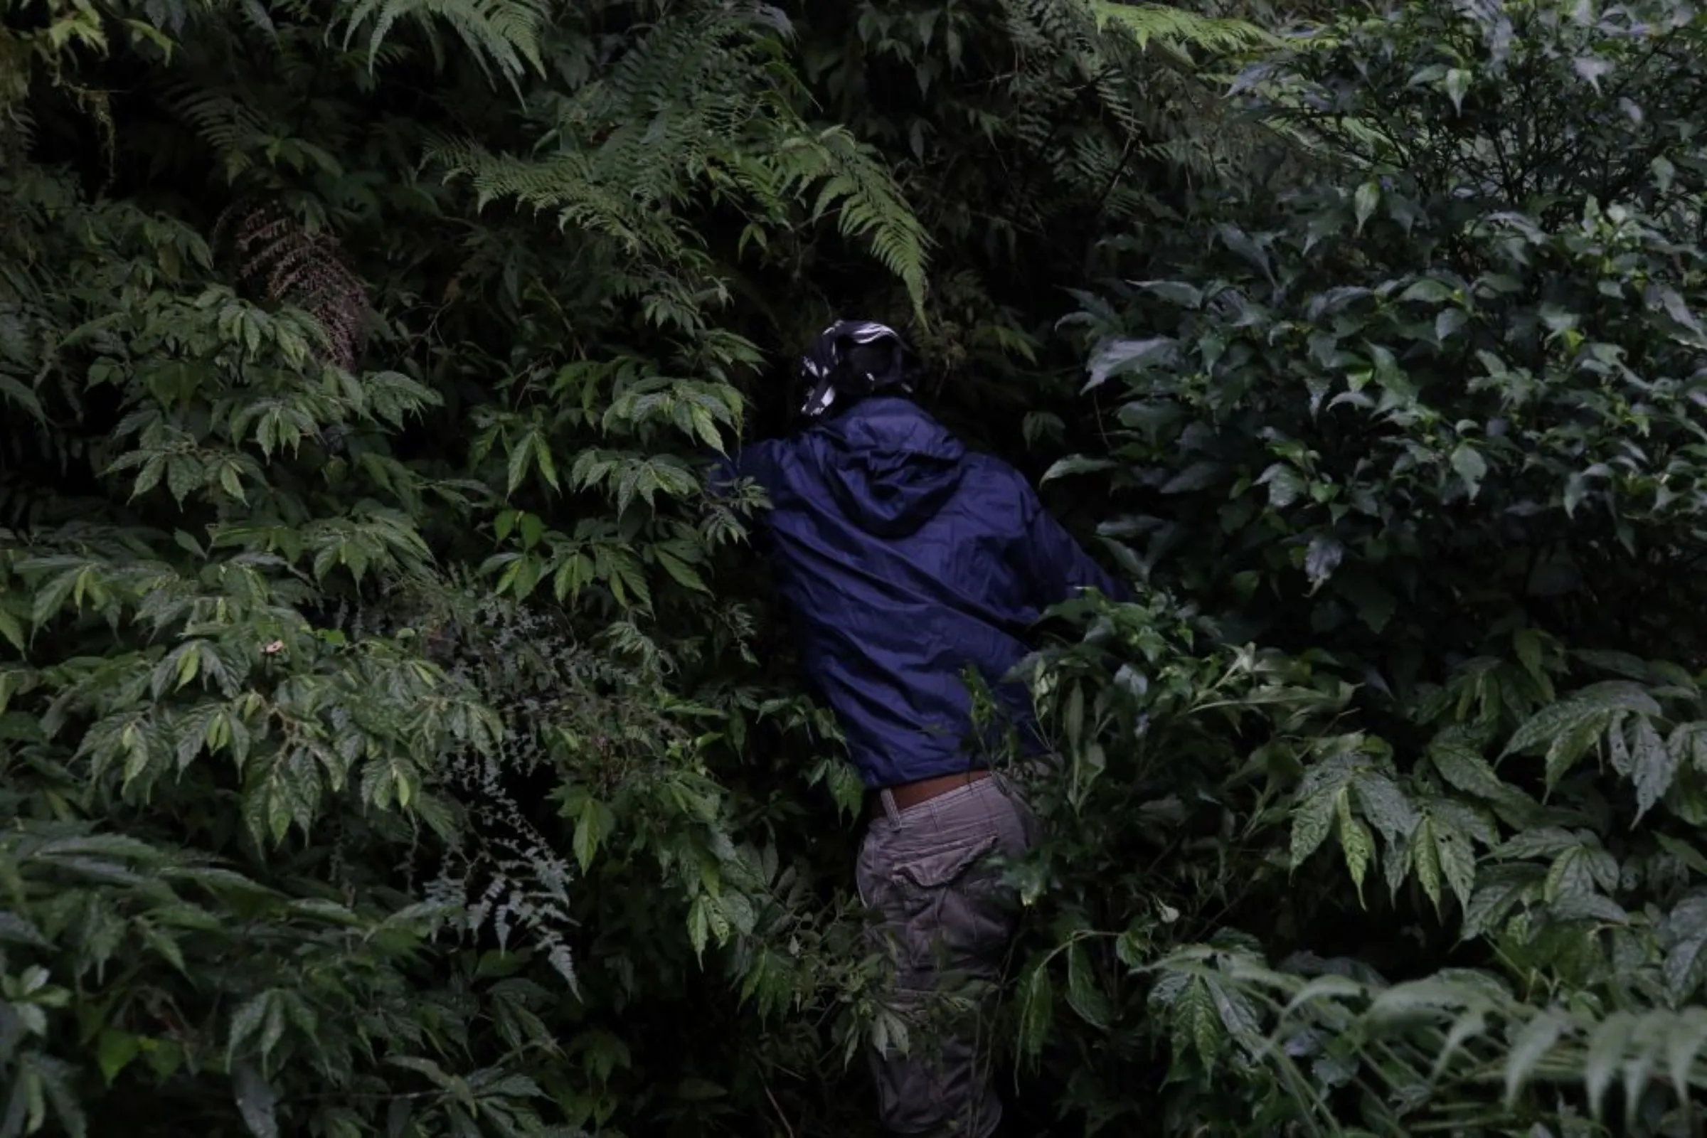
<svg viewBox="0 0 1707 1138"><path fill-rule="evenodd" d="M428 160L466 177L481 205L514 200L555 212L565 229L611 239L625 258L645 261L637 280L652 287L638 295L659 326L695 328L698 311L727 295L705 271L698 227L678 212L707 189L763 218L761 227L787 225L797 203L814 220L833 212L842 234L903 282L922 316L925 227L874 150L845 130L818 133L801 121L785 78L792 72L775 67L790 32L770 5L669 14L563 102L551 135L556 154L526 159L437 138ZM685 283L690 275L698 280Z"/></svg>

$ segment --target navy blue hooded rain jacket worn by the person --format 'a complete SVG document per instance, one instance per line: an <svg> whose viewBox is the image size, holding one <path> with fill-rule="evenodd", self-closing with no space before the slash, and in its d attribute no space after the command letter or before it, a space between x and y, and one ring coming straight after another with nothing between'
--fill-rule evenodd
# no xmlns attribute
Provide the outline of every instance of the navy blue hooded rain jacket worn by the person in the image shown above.
<svg viewBox="0 0 1707 1138"><path fill-rule="evenodd" d="M792 438L743 450L801 653L867 787L982 766L971 665L1033 739L1002 677L1043 609L1079 587L1130 595L1000 459L966 450L910 399L864 399Z"/></svg>

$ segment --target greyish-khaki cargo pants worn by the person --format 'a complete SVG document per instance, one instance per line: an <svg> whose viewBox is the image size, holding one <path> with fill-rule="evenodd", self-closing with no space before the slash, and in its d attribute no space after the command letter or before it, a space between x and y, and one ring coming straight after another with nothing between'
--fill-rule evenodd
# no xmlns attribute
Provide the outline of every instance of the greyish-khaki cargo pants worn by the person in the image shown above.
<svg viewBox="0 0 1707 1138"><path fill-rule="evenodd" d="M894 962L886 1003L908 1027L906 1054L872 1051L881 1123L894 1135L988 1138L1002 1121L988 1020L1019 920L988 855L1029 850L1036 819L1000 775L906 810L883 798L855 870L877 916L869 935Z"/></svg>

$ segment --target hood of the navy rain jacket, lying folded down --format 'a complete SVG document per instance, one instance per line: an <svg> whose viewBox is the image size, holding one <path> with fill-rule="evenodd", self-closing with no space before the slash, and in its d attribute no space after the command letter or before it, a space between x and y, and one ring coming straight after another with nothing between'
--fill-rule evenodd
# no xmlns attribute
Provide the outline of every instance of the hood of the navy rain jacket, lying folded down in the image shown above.
<svg viewBox="0 0 1707 1138"><path fill-rule="evenodd" d="M910 399L867 398L813 428L836 505L877 537L915 532L954 496L966 447Z"/></svg>

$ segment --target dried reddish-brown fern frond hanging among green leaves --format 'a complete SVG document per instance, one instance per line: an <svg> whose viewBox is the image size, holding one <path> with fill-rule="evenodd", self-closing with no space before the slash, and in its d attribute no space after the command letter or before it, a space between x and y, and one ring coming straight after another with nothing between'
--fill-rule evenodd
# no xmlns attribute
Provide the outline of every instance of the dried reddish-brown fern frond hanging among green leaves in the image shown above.
<svg viewBox="0 0 1707 1138"><path fill-rule="evenodd" d="M215 244L227 232L239 285L273 304L294 304L309 312L326 334L326 362L353 369L369 295L345 263L338 239L309 229L273 201L229 206L213 227Z"/></svg>

